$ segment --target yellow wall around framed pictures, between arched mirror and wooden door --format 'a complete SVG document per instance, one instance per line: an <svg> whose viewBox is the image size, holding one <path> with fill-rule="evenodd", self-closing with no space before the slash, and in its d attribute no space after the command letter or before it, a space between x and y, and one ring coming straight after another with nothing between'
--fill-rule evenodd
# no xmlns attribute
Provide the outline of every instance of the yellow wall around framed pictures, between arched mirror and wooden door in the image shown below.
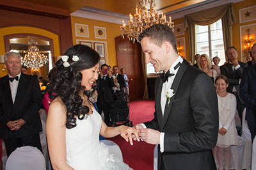
<svg viewBox="0 0 256 170"><path fill-rule="evenodd" d="M120 20L122 22L122 20ZM73 44L76 45L76 40L86 40L90 41L99 41L99 42L107 42L108 46L108 65L114 66L116 65L116 46L115 46L115 38L116 36L121 35L120 24L113 24L110 22L104 22L100 20L92 20L92 19L84 19L81 17L71 17L72 23L72 35L73 35ZM76 36L75 31L75 23L76 24L85 24L88 25L89 29L89 37L81 37ZM94 35L94 26L106 27L106 39L95 38Z"/></svg>

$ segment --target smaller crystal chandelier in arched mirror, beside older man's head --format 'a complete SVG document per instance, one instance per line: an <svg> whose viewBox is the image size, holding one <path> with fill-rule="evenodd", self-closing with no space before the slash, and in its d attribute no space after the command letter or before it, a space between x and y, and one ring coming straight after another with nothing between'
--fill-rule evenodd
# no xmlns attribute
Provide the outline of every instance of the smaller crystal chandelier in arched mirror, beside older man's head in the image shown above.
<svg viewBox="0 0 256 170"><path fill-rule="evenodd" d="M36 47L37 42L35 38L31 38L29 44L28 54L21 58L22 65L35 69L47 64L48 58Z"/></svg>

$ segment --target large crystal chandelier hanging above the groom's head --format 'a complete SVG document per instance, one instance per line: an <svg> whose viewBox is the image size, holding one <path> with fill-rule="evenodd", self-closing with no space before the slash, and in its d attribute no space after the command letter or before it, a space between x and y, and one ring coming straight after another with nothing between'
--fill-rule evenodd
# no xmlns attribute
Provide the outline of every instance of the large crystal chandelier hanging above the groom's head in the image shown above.
<svg viewBox="0 0 256 170"><path fill-rule="evenodd" d="M148 3L149 8L147 6ZM140 33L153 24L164 24L172 28L172 31L174 31L172 17L169 17L169 20L166 20L166 15L164 15L163 12L161 15L158 15L154 0L138 0L134 17L132 17L131 13L129 16L129 29L126 28L126 24L123 20L123 26L120 27L120 31L122 31L123 38L127 35L127 38L133 43L135 43L136 40L138 42L138 36Z"/></svg>

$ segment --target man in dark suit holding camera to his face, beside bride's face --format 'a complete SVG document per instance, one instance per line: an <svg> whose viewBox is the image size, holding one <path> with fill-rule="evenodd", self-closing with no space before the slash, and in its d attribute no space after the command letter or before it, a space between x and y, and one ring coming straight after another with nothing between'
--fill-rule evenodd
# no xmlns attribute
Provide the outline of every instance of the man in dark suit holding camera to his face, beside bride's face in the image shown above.
<svg viewBox="0 0 256 170"><path fill-rule="evenodd" d="M113 101L111 88L113 88L115 84L108 65L104 64L101 66L100 75L97 82L97 86L99 86L99 96L97 99L98 111L99 114L101 114L102 111L104 112L104 121L106 125L109 125L108 111L110 109L110 103Z"/></svg>

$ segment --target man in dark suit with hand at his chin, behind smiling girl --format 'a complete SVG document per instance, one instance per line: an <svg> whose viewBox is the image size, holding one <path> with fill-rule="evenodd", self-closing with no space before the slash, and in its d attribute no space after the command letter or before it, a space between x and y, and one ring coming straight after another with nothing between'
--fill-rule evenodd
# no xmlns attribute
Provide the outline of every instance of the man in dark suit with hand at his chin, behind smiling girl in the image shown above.
<svg viewBox="0 0 256 170"><path fill-rule="evenodd" d="M228 47L226 50L226 56L228 58L228 63L220 66L221 74L225 75L228 78L228 93L234 93L237 98L237 110L239 117L242 121L243 109L245 107L244 101L240 97L240 81L243 75L243 69L247 66L246 63L238 61L237 49L236 47Z"/></svg>

